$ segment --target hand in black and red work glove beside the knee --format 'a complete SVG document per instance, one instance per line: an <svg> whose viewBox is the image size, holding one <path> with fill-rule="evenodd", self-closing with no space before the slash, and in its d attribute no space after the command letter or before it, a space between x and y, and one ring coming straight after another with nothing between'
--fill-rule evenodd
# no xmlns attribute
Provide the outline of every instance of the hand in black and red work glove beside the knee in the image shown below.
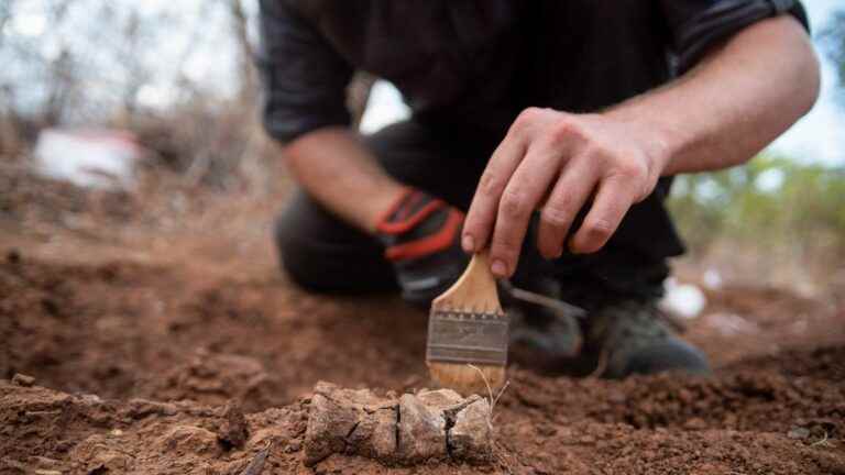
<svg viewBox="0 0 845 475"><path fill-rule="evenodd" d="M463 212L413 188L382 216L376 232L405 300L426 307L458 280L469 262L460 246L462 225Z"/></svg>

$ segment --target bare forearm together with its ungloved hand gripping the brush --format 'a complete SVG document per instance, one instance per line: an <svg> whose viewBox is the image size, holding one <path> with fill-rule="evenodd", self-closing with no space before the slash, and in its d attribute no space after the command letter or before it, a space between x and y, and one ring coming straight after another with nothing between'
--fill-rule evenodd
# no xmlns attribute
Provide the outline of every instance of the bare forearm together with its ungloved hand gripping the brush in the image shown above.
<svg viewBox="0 0 845 475"><path fill-rule="evenodd" d="M585 85L589 87L589 85ZM599 113L528 108L487 162L463 227L463 247L490 246L513 275L531 213L547 258L593 253L661 175L740 164L804 114L819 64L789 16L755 23L682 78ZM578 230L578 212L589 207ZM571 238L570 238L571 236Z"/></svg>

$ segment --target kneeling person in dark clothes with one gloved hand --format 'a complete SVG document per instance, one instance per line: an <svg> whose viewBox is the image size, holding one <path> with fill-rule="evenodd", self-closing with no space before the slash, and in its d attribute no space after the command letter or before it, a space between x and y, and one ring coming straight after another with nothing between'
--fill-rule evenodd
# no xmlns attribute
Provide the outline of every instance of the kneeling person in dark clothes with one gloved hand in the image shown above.
<svg viewBox="0 0 845 475"><path fill-rule="evenodd" d="M261 1L264 123L300 190L283 267L315 291L400 289L427 305L490 250L491 270L588 309L605 376L709 371L657 318L682 254L671 177L739 165L815 101L792 0ZM350 130L354 69L410 120ZM552 355L553 316L520 318Z"/></svg>

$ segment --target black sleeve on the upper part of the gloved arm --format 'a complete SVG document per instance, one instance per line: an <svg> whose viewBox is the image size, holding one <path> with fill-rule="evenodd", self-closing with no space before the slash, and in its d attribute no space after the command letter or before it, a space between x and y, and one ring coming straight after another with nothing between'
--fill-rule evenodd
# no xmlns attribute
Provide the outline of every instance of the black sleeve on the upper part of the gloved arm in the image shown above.
<svg viewBox="0 0 845 475"><path fill-rule="evenodd" d="M321 126L348 125L352 68L343 58L285 1L261 0L259 26L255 62L267 133L289 142Z"/></svg>

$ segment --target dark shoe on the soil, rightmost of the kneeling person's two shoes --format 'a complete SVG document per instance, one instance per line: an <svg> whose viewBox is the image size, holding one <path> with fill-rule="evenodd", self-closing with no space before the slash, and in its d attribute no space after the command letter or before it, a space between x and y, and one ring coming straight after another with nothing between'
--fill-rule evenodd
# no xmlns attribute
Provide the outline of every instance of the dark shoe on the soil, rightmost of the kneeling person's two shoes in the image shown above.
<svg viewBox="0 0 845 475"><path fill-rule="evenodd" d="M667 327L652 302L624 301L590 316L584 350L607 378L676 371L707 375L710 365L695 346Z"/></svg>

